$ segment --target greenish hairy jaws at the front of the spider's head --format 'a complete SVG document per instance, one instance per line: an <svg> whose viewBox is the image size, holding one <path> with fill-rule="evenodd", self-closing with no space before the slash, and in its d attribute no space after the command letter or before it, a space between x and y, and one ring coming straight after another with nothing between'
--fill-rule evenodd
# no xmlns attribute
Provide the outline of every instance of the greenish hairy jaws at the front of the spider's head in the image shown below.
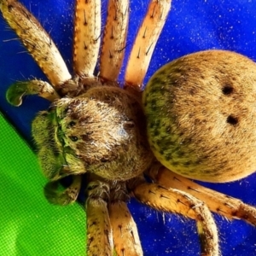
<svg viewBox="0 0 256 256"><path fill-rule="evenodd" d="M63 138L55 115L56 108L38 113L32 122L32 136L38 146L38 159L45 177L57 180L84 172L84 165Z"/></svg>

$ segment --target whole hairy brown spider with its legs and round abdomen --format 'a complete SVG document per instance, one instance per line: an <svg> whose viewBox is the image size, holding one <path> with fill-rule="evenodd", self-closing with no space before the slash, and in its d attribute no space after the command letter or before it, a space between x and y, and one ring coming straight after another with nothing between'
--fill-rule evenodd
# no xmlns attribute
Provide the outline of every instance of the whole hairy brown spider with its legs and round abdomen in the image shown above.
<svg viewBox="0 0 256 256"><path fill-rule="evenodd" d="M93 73L101 3L75 3L72 77L38 20L19 2L0 0L4 19L49 79L18 82L7 92L16 106L22 96L32 94L52 102L32 122L41 168L49 178L47 199L61 205L76 201L84 180L89 255L143 254L126 206L130 196L154 209L195 219L202 255L218 255L218 230L210 211L255 225L256 210L186 177L227 182L255 169L254 63L226 51L187 55L154 74L141 102L138 91L171 0L149 4L126 67L125 90L117 88L116 81L124 58L128 1L109 1L98 77ZM60 191L66 176L72 184Z"/></svg>

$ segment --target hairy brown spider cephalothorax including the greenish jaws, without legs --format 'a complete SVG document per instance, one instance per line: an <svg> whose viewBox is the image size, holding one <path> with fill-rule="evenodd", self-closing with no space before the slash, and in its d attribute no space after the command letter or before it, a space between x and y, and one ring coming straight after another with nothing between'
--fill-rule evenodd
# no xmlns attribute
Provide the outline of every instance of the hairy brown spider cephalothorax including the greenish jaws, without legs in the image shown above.
<svg viewBox="0 0 256 256"><path fill-rule="evenodd" d="M91 172L127 180L142 174L154 159L145 128L137 98L104 86L53 103L33 121L32 134L50 179Z"/></svg>

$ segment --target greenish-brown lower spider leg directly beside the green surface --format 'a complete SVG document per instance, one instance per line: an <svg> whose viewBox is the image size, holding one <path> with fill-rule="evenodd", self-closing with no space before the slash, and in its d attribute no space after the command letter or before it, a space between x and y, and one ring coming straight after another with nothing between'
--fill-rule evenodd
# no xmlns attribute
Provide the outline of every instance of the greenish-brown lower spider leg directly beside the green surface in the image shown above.
<svg viewBox="0 0 256 256"><path fill-rule="evenodd" d="M92 179L86 188L87 255L113 255L113 232L108 216L108 183Z"/></svg>

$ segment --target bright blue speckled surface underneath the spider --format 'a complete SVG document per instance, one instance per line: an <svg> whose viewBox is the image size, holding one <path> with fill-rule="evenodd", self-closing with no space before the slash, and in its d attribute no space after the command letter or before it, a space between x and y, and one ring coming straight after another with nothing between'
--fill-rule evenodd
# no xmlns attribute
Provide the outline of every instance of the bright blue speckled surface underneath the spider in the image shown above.
<svg viewBox="0 0 256 256"><path fill-rule="evenodd" d="M24 3L38 17L57 44L72 71L73 1L27 0ZM148 0L131 1L128 35L129 53L138 24L148 6ZM106 15L107 3L102 3ZM47 108L48 102L27 97L20 108L9 106L5 91L17 80L44 79L32 57L26 53L14 32L0 19L0 81L1 111L15 124L20 134L32 143L31 120ZM202 49L230 49L256 60L256 1L245 0L173 0L172 10L154 51L148 78L163 64ZM126 59L125 59L126 61ZM124 70L121 73L122 78ZM206 184L225 194L256 205L256 175L236 183ZM172 214L155 212L136 201L129 204L137 222L144 255L200 255L195 222ZM256 228L242 221L227 221L216 216L220 247L224 256L256 255Z"/></svg>

